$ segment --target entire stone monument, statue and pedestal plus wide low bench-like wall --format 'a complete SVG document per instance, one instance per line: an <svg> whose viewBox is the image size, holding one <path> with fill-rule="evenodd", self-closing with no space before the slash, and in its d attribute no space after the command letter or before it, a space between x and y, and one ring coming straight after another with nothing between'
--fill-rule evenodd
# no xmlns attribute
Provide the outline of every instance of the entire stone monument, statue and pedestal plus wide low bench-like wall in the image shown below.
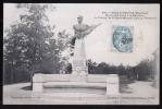
<svg viewBox="0 0 162 109"><path fill-rule="evenodd" d="M47 88L78 87L78 88L107 88L107 95L119 94L117 74L88 74L86 63L85 37L89 35L97 25L83 24L83 16L77 17L78 24L74 25L74 55L72 57L72 74L35 74L33 77L33 92L43 93Z"/></svg>

